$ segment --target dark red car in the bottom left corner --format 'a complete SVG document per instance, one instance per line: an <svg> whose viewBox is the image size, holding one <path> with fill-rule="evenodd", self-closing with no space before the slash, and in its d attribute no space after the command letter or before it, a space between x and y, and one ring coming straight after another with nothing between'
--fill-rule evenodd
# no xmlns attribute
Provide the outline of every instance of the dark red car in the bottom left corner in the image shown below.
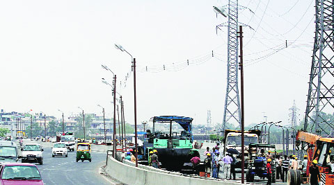
<svg viewBox="0 0 334 185"><path fill-rule="evenodd" d="M44 185L35 164L3 163L0 168L1 185Z"/></svg>

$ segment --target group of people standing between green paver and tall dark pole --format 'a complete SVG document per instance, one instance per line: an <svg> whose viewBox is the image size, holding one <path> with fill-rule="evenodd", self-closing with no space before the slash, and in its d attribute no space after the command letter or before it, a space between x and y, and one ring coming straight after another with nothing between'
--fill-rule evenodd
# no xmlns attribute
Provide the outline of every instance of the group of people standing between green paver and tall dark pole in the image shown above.
<svg viewBox="0 0 334 185"><path fill-rule="evenodd" d="M204 155L206 157L204 160L206 176L212 173L212 177L218 178L219 171L222 168L224 173L222 179L232 179L232 176L235 179L234 164L236 163L236 159L232 154L223 156L219 152L219 147L216 146L212 148L212 151L207 147Z"/></svg>

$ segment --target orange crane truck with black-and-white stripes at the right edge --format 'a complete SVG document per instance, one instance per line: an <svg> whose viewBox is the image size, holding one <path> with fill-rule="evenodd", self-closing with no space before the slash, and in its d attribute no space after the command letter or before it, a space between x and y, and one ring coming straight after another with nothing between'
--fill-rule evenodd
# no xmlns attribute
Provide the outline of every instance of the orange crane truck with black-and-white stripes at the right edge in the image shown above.
<svg viewBox="0 0 334 185"><path fill-rule="evenodd" d="M289 170L287 183L300 185L310 182L310 166L317 160L321 180L319 184L334 184L334 138L321 137L317 134L299 130L296 134L296 150L307 153L308 166L302 175L301 170Z"/></svg>

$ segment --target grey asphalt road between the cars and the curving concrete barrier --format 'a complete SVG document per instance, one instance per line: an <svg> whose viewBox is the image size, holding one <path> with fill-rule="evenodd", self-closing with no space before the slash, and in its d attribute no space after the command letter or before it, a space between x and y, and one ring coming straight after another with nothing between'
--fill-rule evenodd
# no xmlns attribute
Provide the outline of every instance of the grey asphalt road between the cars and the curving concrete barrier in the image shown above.
<svg viewBox="0 0 334 185"><path fill-rule="evenodd" d="M68 152L68 157L52 157L51 148L44 148L43 164L38 166L46 185L59 184L112 184L110 179L100 175L100 167L105 165L106 154L92 152L92 162L76 162L76 152Z"/></svg>

